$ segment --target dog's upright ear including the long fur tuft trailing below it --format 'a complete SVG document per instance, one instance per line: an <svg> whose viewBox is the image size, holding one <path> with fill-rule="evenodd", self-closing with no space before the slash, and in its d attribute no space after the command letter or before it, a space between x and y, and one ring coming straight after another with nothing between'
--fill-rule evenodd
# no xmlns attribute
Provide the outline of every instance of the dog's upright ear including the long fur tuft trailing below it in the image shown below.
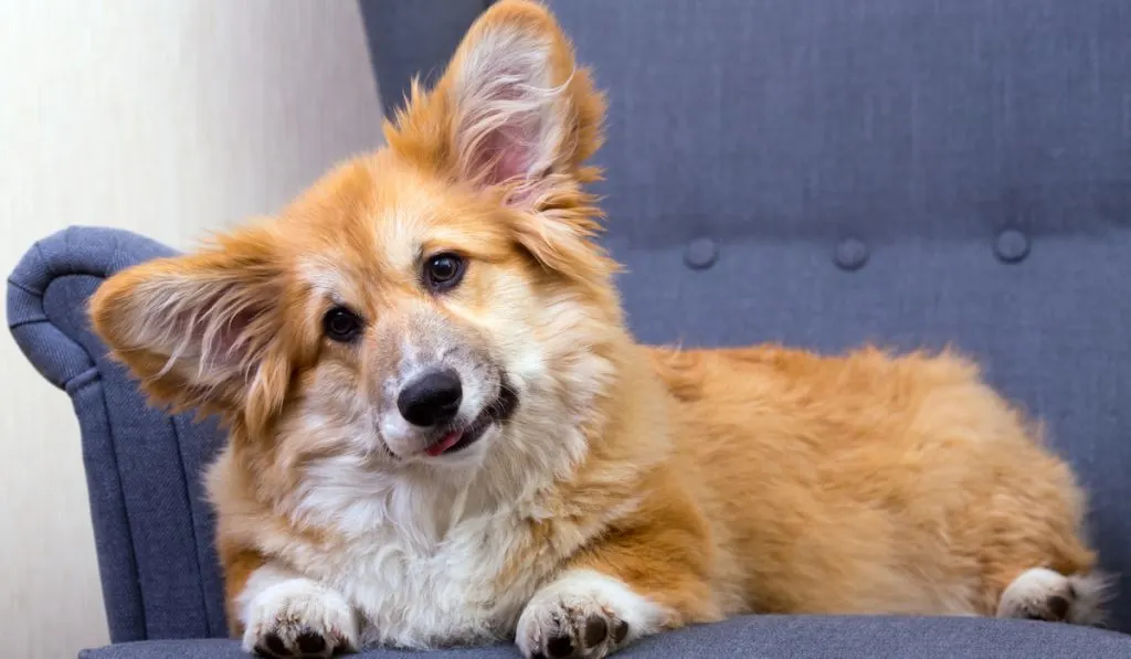
<svg viewBox="0 0 1131 659"><path fill-rule="evenodd" d="M520 211L516 240L544 267L603 285L615 265L592 242L601 213L584 185L601 175L585 162L601 146L604 112L550 11L502 0L434 89L413 84L386 138L418 166Z"/></svg>

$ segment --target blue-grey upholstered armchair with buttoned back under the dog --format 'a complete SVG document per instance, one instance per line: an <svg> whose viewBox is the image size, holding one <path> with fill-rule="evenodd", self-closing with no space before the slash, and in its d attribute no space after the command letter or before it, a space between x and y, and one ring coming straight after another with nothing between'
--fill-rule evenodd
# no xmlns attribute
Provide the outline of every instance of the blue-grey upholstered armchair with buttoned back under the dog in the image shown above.
<svg viewBox="0 0 1131 659"><path fill-rule="evenodd" d="M1131 595L1131 3L551 5L610 93L605 240L639 338L977 356L1074 466L1102 563ZM483 7L362 2L387 106ZM242 656L221 640L198 478L223 436L147 407L85 314L107 275L170 252L74 227L8 281L12 335L80 422L114 643L89 659ZM1131 657L1129 595L1114 631L760 616L624 656Z"/></svg>

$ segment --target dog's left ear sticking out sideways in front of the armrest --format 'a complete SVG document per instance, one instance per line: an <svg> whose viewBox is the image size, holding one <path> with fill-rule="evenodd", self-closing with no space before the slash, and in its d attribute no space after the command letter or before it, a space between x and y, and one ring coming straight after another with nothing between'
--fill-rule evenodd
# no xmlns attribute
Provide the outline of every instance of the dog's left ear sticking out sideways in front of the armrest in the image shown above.
<svg viewBox="0 0 1131 659"><path fill-rule="evenodd" d="M90 318L157 401L261 423L290 381L278 345L284 276L270 233L252 227L114 275L92 298Z"/></svg>

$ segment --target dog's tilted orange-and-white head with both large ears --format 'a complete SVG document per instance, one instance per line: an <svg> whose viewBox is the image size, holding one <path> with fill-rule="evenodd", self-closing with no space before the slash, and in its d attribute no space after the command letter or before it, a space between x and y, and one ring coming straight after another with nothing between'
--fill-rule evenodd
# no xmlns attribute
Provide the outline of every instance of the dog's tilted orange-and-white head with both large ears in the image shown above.
<svg viewBox="0 0 1131 659"><path fill-rule="evenodd" d="M387 147L277 218L112 277L95 328L153 398L219 413L268 466L576 452L562 436L622 333L584 190L602 114L553 18L497 3Z"/></svg>

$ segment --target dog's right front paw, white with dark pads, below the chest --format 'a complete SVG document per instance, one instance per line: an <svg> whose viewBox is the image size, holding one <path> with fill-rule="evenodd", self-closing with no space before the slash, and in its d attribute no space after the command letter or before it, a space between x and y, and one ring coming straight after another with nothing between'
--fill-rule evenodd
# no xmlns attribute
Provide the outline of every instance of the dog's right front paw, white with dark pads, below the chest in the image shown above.
<svg viewBox="0 0 1131 659"><path fill-rule="evenodd" d="M662 609L623 582L588 570L539 590L518 619L515 642L529 658L601 659L659 630Z"/></svg>

